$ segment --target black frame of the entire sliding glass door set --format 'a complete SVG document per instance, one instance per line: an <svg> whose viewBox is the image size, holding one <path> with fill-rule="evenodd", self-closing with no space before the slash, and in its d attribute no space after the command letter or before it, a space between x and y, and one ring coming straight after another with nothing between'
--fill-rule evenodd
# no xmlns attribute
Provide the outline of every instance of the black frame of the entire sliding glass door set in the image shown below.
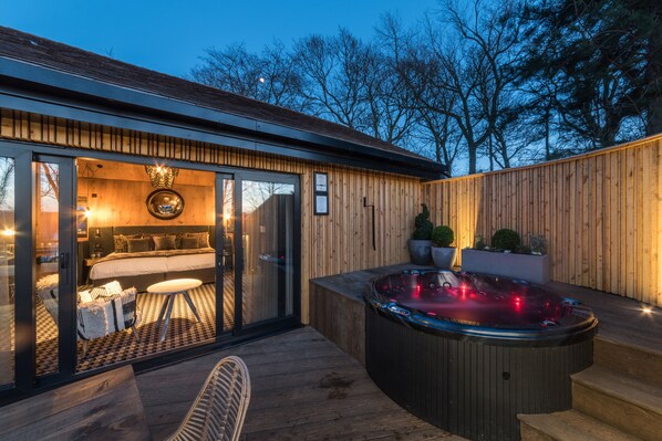
<svg viewBox="0 0 662 441"><path fill-rule="evenodd" d="M76 290L76 267L74 265L77 253L75 235L75 208L76 208L76 158L102 159L117 162L149 165L154 162L151 157L127 156L116 153L94 151L82 148L58 148L32 141L17 141L0 139L0 155L12 157L15 160L15 182L22 185L15 186L15 200L31 201L31 203L17 203L15 220L17 231L19 227L25 234L17 234L14 265L15 265L15 308L14 319L17 329L21 328L21 345L15 348L14 359L14 388L0 391L0 406L10 402L17 398L38 393L54 386L82 379L101 371L115 368L103 367L84 372L76 372L77 336L75 328L75 290ZM59 308L59 371L58 374L45 375L39 379L37 371L37 333L35 333L35 272L34 272L34 160L56 161L64 167L63 176L69 175L66 181L61 181L61 202L60 202L60 252L69 253L69 267L60 269L60 279L62 283L69 284L60 286L60 308ZM228 344L238 344L254 338L262 337L272 333L282 332L301 325L301 183L300 176L293 174L281 174L272 171L259 171L252 169L238 168L232 166L217 166L208 164L189 162L182 160L169 160L158 158L159 162L166 166L187 168L190 170L213 171L217 176L230 177L235 181L235 327L231 333L223 333L223 325L218 327L218 322L223 323L223 305L218 308L219 296L217 295L217 332L216 343L194 346L176 353L155 354L139 360L131 360L126 364L134 365L137 370L151 369L175 360L187 357L195 357L208 351L218 350ZM66 166L69 164L69 166ZM242 326L241 317L241 276L242 276L242 244L241 244L241 187L244 179L268 180L278 179L279 181L294 185L294 235L293 235L293 260L294 260L294 280L293 280L293 314L285 318L275 318L270 321ZM217 178L218 179L218 178ZM30 182L30 185L27 185ZM64 193L62 193L64 191ZM63 206L64 198L68 203ZM218 213L218 211L217 211ZM19 224L21 222L21 224ZM24 222L24 227L22 223ZM220 223L220 225L219 225ZM223 240L223 223L216 222L216 241ZM68 229L66 225L70 228ZM68 231L62 231L62 230ZM219 229L221 234L218 234ZM218 245L218 243L217 243ZM65 249L66 246L66 249ZM20 250L20 251L19 251ZM218 260L218 253L217 253ZM217 270L219 263L217 261ZM220 260L223 265L223 259ZM221 277L223 280L223 277ZM73 284L73 285L71 285ZM21 298L21 301L19 301ZM220 296L223 303L223 294ZM218 311L221 313L218 314ZM220 318L219 318L220 315ZM18 340L18 334L17 334Z"/></svg>

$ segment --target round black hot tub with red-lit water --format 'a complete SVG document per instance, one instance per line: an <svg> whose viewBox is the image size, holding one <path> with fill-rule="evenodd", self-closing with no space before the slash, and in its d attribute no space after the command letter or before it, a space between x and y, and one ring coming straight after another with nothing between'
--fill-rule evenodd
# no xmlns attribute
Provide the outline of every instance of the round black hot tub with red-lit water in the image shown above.
<svg viewBox="0 0 662 441"><path fill-rule="evenodd" d="M365 367L415 416L472 440L517 440L517 413L571 406L598 321L576 301L504 277L411 270L365 291Z"/></svg>

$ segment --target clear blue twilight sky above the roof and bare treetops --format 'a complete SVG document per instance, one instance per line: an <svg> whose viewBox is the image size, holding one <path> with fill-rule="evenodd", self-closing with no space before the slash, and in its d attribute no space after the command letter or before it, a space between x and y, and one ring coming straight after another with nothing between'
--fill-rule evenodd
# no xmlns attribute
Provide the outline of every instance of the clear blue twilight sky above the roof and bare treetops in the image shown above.
<svg viewBox="0 0 662 441"><path fill-rule="evenodd" d="M180 76L210 46L259 51L339 27L368 40L386 11L410 25L436 9L437 0L0 0L0 25Z"/></svg>

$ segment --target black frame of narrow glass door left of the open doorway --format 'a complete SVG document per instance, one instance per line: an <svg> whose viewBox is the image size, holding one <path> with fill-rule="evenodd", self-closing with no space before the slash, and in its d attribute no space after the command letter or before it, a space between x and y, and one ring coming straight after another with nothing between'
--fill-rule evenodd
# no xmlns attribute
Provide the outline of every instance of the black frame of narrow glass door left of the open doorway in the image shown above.
<svg viewBox="0 0 662 441"><path fill-rule="evenodd" d="M0 144L0 155L15 160L15 252L14 252L14 385L19 392L60 384L75 374L77 336L75 329L75 174L74 159L37 154L30 149ZM35 302L35 186L38 162L59 166L59 337L58 371L37 377L37 302ZM29 183L28 183L29 182Z"/></svg>

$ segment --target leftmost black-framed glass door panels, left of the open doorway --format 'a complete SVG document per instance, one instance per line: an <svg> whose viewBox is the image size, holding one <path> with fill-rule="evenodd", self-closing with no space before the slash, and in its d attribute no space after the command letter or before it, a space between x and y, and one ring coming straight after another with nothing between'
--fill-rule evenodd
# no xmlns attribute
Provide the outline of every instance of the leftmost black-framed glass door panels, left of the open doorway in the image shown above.
<svg viewBox="0 0 662 441"><path fill-rule="evenodd" d="M0 389L73 376L73 159L0 146Z"/></svg>

